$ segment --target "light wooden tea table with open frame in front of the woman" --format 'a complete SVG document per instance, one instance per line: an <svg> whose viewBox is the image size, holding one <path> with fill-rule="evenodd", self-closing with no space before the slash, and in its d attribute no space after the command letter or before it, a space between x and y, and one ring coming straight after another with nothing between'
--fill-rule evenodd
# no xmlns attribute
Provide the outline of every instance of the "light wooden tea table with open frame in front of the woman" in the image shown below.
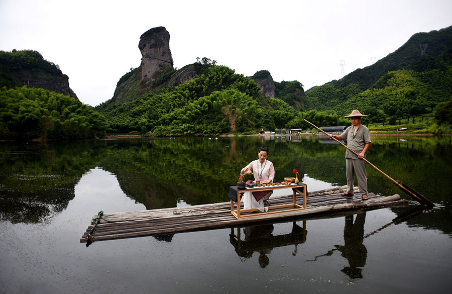
<svg viewBox="0 0 452 294"><path fill-rule="evenodd" d="M231 188L237 189L237 186L231 186ZM257 208L249 208L249 209L242 209L242 210L240 209L240 199L241 199L241 196L243 193L257 192L257 191L272 191L272 190L287 189L287 188L292 188L293 203L284 204L284 205L272 205L272 206L268 206L268 211L257 213L257 214L251 214L251 215L242 215L242 213L246 213L246 212L259 211ZM300 193L301 195L303 195L303 206L297 204L297 192ZM230 195L231 214L233 216L235 216L237 219L242 219L242 218L260 217L262 215L267 215L267 214L278 214L278 213L286 213L286 212L291 212L291 211L303 210L303 209L306 209L306 195L307 195L307 186L304 183L237 189L237 199L233 199ZM237 203L237 210L235 209L234 202ZM291 209L271 211L271 210L282 209L282 208L291 208Z"/></svg>

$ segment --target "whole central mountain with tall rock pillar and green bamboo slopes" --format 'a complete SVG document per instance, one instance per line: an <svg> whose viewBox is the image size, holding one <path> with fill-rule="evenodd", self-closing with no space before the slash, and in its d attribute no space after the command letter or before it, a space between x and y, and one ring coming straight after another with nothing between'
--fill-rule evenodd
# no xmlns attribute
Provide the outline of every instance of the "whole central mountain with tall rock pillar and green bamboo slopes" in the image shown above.
<svg viewBox="0 0 452 294"><path fill-rule="evenodd" d="M107 118L110 133L206 136L273 131L293 120L296 109L304 105L301 83L275 83L268 71L261 71L263 89L264 84L207 57L174 69L164 27L144 33L138 47L141 65L120 78L112 99L95 108Z"/></svg>

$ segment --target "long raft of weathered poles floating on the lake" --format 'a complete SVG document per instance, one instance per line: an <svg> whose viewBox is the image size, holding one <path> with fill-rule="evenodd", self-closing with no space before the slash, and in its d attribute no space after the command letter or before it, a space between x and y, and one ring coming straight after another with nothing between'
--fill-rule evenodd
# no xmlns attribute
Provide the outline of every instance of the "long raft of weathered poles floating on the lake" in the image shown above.
<svg viewBox="0 0 452 294"><path fill-rule="evenodd" d="M368 193L368 201L362 201L360 193L355 193L354 197L344 197L341 193L346 189L347 186L342 186L308 192L305 210L291 212L282 210L281 213L243 219L237 219L231 214L230 202L136 212L104 213L101 218L98 215L93 217L91 225L80 238L80 243L89 244L94 241L231 228L282 219L312 217L331 212L371 210L408 204L408 201L402 200L399 194L382 196ZM355 192L357 189L355 187ZM284 205L292 201L292 194L270 198L271 205ZM255 214L259 214L259 212Z"/></svg>

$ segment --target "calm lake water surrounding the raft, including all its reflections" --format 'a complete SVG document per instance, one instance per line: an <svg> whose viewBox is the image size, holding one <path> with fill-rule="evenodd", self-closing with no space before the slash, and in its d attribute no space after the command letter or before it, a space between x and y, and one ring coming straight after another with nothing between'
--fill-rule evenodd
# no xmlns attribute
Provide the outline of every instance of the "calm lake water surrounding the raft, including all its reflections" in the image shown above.
<svg viewBox="0 0 452 294"><path fill-rule="evenodd" d="M0 143L1 293L437 293L452 286L452 137L373 136L369 190L408 206L242 228L94 242L105 213L228 202L270 149L276 180L346 184L345 149L322 136ZM239 241L240 239L240 241Z"/></svg>

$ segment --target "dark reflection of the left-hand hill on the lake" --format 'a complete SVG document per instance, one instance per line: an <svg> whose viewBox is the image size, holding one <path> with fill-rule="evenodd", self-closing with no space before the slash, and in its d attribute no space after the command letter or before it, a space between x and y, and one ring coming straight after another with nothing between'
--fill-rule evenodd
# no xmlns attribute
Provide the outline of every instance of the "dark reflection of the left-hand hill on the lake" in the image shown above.
<svg viewBox="0 0 452 294"><path fill-rule="evenodd" d="M63 211L96 164L89 141L0 145L0 218L36 223ZM99 154L100 155L100 154Z"/></svg>

